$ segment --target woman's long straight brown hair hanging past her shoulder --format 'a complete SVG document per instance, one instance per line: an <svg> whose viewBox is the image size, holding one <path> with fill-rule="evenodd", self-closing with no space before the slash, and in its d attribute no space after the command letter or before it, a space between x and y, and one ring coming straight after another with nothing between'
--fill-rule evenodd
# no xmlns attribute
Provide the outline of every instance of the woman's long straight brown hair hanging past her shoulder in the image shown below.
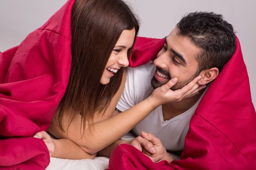
<svg viewBox="0 0 256 170"><path fill-rule="evenodd" d="M70 125L80 114L84 129L85 122L93 122L95 113L106 111L121 84L124 68L107 85L101 85L100 78L120 34L133 28L137 36L138 20L122 0L76 0L71 19L70 78L53 121L61 130L63 116Z"/></svg>

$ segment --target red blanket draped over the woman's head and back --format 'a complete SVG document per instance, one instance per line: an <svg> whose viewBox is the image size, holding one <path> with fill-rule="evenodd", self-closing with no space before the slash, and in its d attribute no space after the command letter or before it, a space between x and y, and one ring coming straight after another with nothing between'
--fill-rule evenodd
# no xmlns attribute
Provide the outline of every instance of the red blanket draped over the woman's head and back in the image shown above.
<svg viewBox="0 0 256 170"><path fill-rule="evenodd" d="M69 0L15 48L0 53L0 169L43 170L46 131L66 90L71 67Z"/></svg>

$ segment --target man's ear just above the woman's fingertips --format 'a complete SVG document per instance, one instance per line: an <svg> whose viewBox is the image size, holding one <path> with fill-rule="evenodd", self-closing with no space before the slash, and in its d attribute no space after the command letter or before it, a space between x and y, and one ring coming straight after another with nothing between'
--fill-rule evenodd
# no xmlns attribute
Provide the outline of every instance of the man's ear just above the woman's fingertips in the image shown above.
<svg viewBox="0 0 256 170"><path fill-rule="evenodd" d="M210 68L210 69L202 70L199 75L202 77L197 83L199 85L207 85L217 77L218 68Z"/></svg>

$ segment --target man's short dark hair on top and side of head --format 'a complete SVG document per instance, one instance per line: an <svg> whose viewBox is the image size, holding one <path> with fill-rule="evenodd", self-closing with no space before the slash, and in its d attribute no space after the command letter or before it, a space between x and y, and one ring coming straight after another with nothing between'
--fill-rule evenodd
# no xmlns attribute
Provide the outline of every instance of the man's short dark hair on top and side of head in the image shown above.
<svg viewBox="0 0 256 170"><path fill-rule="evenodd" d="M201 49L197 56L198 71L216 67L219 71L236 50L233 26L220 14L190 13L177 23L178 34L188 36Z"/></svg>

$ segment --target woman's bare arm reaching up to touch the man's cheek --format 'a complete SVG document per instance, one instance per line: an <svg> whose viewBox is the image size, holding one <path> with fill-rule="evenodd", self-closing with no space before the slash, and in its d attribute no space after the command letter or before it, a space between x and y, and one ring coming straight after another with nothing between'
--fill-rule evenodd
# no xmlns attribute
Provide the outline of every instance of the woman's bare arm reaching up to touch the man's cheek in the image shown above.
<svg viewBox="0 0 256 170"><path fill-rule="evenodd" d="M86 153L94 154L103 148L109 146L118 140L122 135L129 132L138 122L147 117L160 104L181 100L185 96L189 96L190 91L194 91L198 78L184 86L182 89L172 91L170 88L176 84L177 80L172 79L166 85L158 87L151 96L146 100L139 102L134 107L122 112L111 118L103 118L100 114L94 119L94 124L87 125L83 130L81 126L81 116L78 115L67 128L67 119L63 119L65 132L62 132L55 125L51 125L48 129L54 136L59 138L67 138L79 145ZM121 88L123 89L124 82ZM114 108L121 95L120 90L110 103L107 112L113 113ZM105 113L108 115L109 113ZM111 113L111 114L112 114ZM89 129L91 128L91 131ZM84 133L84 135L82 135Z"/></svg>

